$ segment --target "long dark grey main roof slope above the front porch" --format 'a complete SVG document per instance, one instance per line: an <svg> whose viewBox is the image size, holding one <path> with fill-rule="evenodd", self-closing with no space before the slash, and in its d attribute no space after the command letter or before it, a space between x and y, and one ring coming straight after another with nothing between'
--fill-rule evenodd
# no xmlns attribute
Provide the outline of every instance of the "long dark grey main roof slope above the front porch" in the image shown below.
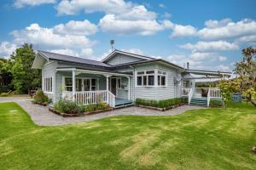
<svg viewBox="0 0 256 170"><path fill-rule="evenodd" d="M52 60L67 61L67 62L79 63L84 65L111 67L111 65L102 63L101 61L92 60L92 59L84 59L84 58L73 57L73 56L64 55L64 54L55 54L55 53L50 53L46 51L38 51L38 53L43 55L45 58L52 59Z"/></svg>

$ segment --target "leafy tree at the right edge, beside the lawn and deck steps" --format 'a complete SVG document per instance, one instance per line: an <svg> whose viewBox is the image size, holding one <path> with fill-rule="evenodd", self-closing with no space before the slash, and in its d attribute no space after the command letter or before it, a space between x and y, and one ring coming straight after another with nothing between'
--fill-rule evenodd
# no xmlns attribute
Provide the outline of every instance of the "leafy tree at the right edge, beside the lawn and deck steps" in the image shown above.
<svg viewBox="0 0 256 170"><path fill-rule="evenodd" d="M256 62L253 57L256 48L245 48L242 50L243 59L236 62L236 74L240 79L241 94L254 106L256 106Z"/></svg>

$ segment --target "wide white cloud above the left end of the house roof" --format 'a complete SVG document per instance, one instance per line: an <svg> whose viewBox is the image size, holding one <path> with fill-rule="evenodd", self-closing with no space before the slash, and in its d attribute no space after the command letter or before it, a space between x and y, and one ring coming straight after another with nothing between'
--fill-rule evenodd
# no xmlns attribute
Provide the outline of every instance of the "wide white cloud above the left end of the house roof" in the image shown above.
<svg viewBox="0 0 256 170"><path fill-rule="evenodd" d="M28 42L39 48L90 48L94 44L85 36L57 34L53 28L40 27L37 23L13 31L12 35L18 44Z"/></svg>

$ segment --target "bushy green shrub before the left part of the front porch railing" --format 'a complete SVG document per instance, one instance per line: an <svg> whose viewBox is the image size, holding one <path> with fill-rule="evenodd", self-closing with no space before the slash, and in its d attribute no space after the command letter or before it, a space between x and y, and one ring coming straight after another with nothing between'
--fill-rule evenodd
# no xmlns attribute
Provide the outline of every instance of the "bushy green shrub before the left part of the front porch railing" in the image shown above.
<svg viewBox="0 0 256 170"><path fill-rule="evenodd" d="M82 108L79 107L75 102L67 100L67 99L60 99L54 105L55 111L64 112L67 114L81 114Z"/></svg>

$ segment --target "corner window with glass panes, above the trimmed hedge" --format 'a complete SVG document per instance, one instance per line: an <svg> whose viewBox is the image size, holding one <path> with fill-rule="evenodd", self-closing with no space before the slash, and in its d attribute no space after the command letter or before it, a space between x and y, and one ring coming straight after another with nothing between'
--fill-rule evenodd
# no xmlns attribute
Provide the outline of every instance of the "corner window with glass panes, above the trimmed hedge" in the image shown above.
<svg viewBox="0 0 256 170"><path fill-rule="evenodd" d="M155 84L154 81L157 83ZM166 86L166 72L137 71L137 86Z"/></svg>

